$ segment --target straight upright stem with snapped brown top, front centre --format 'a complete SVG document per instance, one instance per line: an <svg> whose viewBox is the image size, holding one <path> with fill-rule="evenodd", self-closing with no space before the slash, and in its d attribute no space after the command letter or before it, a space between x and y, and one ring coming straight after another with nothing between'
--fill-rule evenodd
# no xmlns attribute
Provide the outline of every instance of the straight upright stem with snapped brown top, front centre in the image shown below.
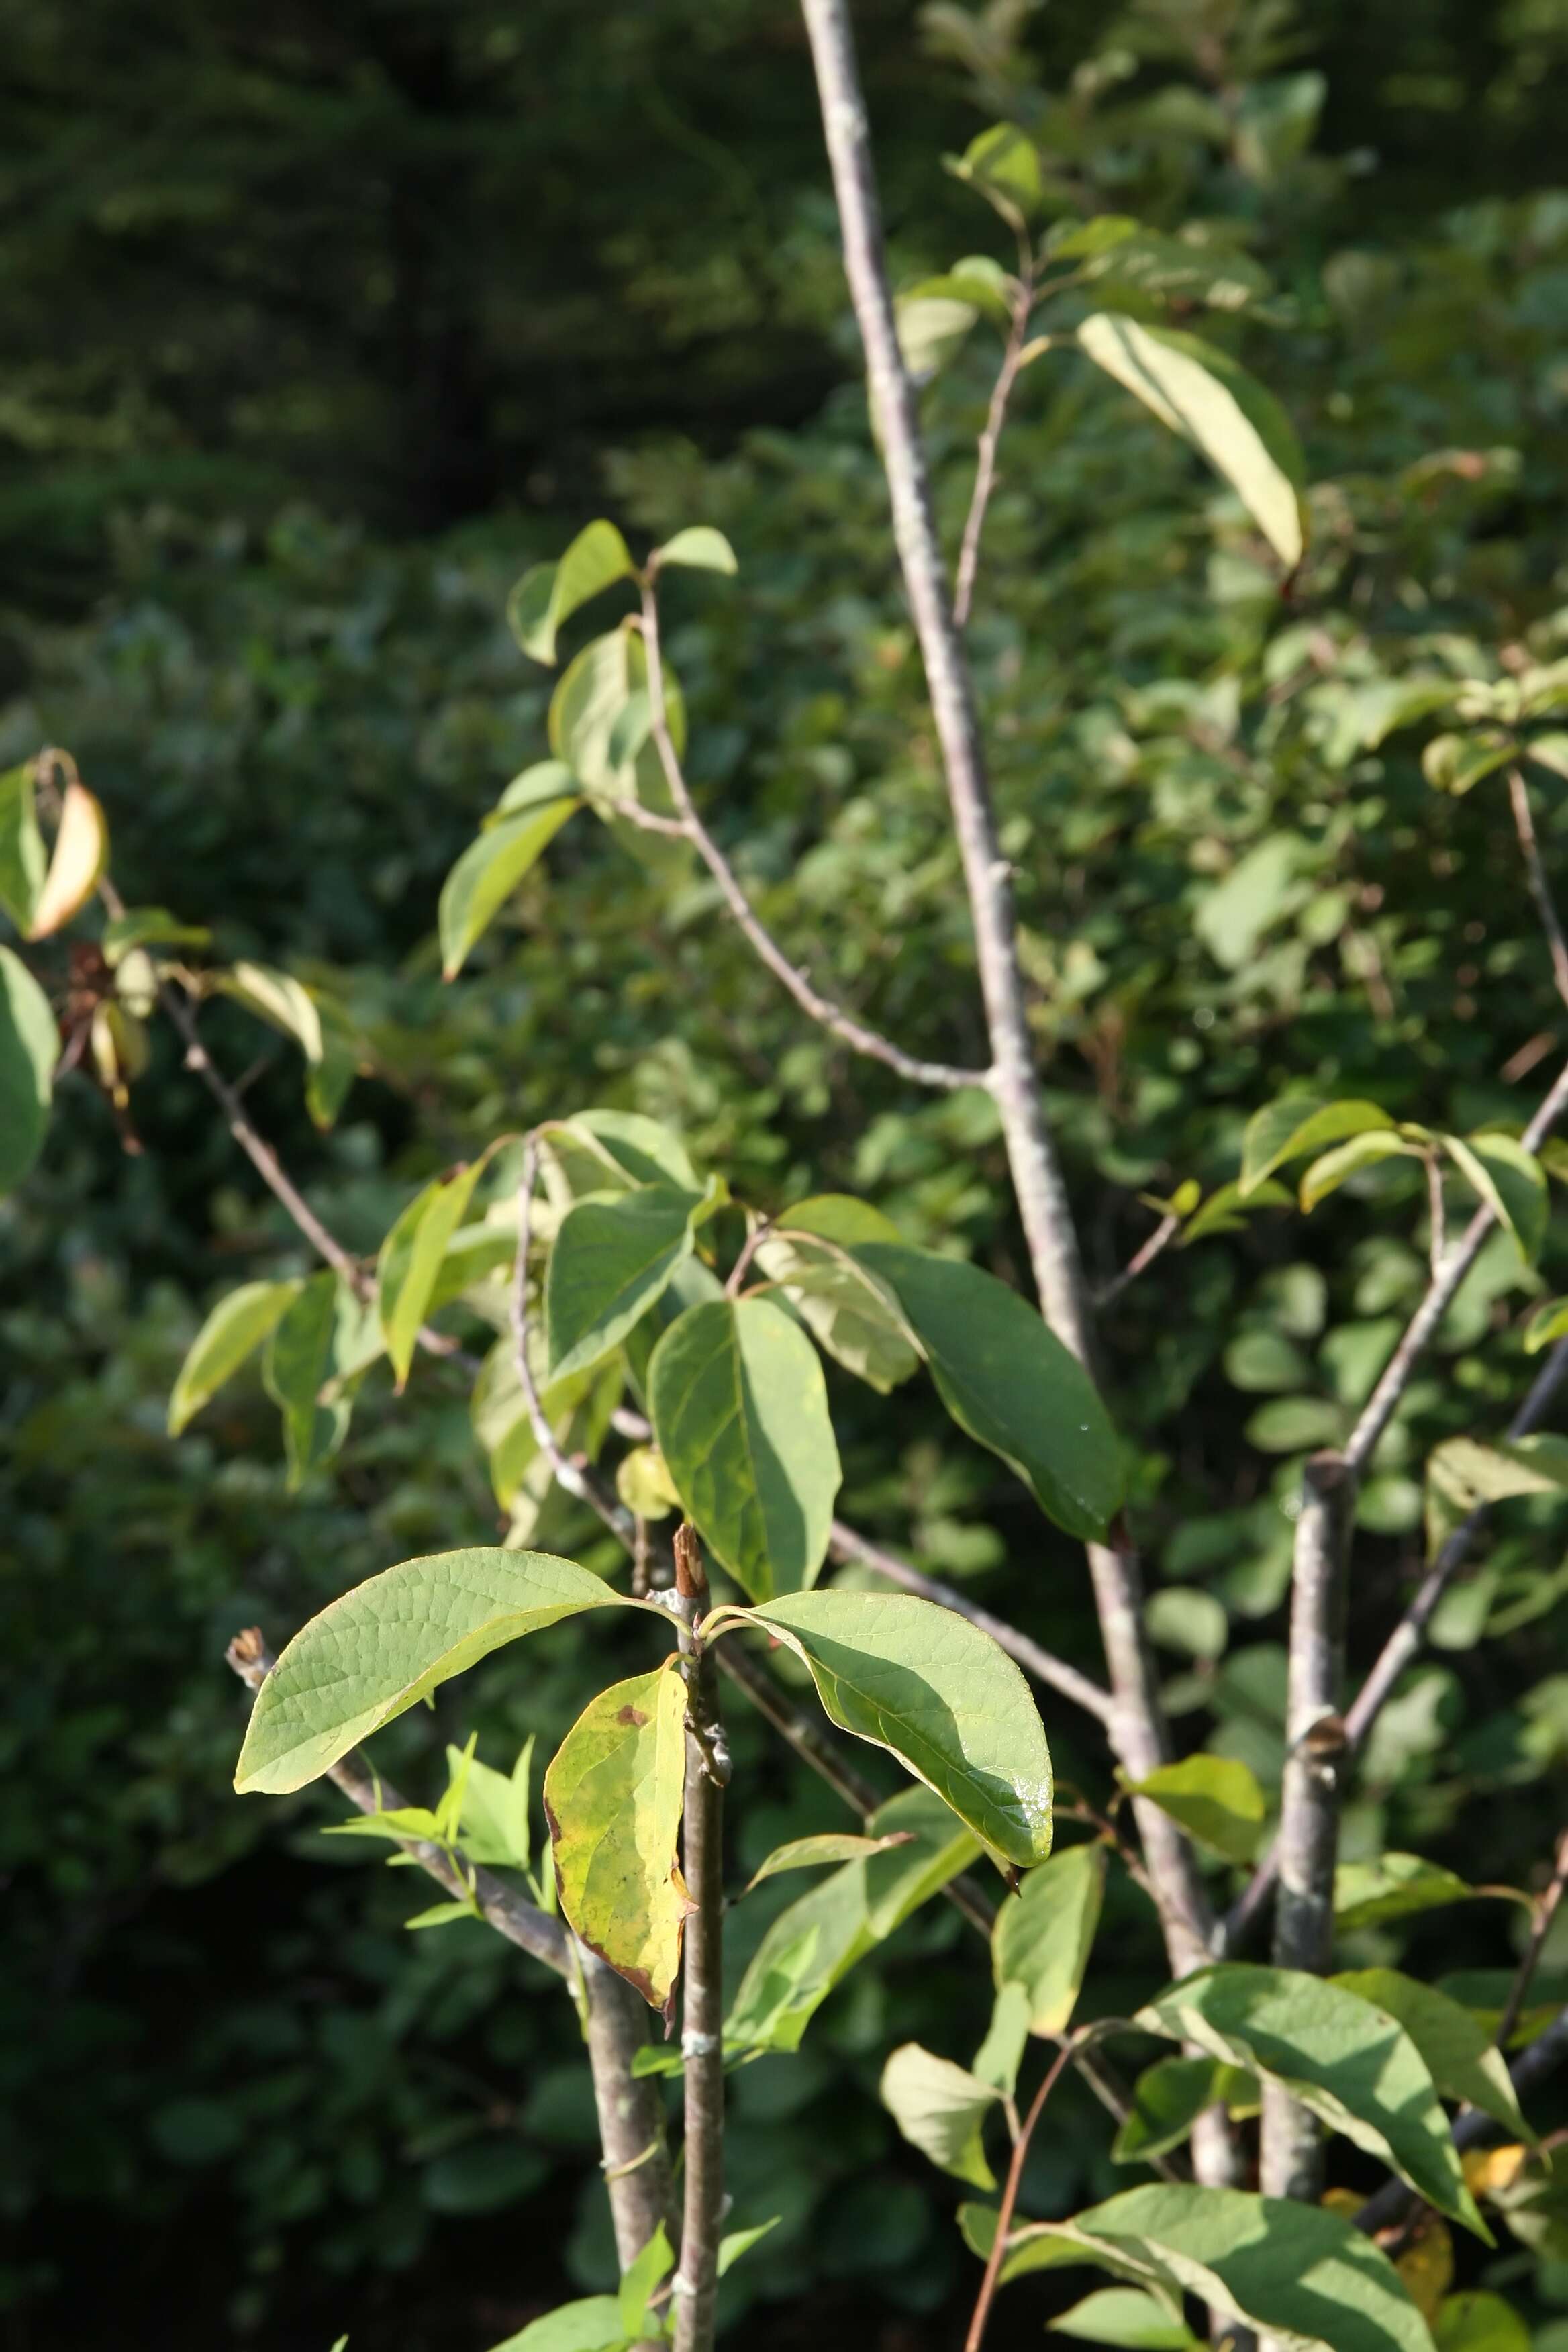
<svg viewBox="0 0 1568 2352"><path fill-rule="evenodd" d="M675 2274L675 2352L710 2352L724 2227L724 1771L717 1693L701 1644L708 1576L693 1526L675 1534L675 1595L686 1656L686 1804L682 1856L693 1910L682 1938L684 2171L682 2258Z"/></svg>

